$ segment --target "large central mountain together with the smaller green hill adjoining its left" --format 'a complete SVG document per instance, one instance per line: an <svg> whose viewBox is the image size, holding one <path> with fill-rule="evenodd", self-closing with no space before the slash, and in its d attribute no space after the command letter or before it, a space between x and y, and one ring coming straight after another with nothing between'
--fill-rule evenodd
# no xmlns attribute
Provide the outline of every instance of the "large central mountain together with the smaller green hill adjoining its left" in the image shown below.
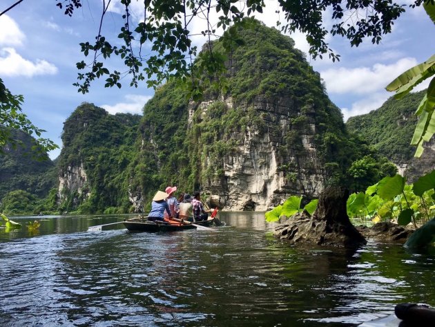
<svg viewBox="0 0 435 327"><path fill-rule="evenodd" d="M220 79L213 69L198 72L203 94L195 101L186 97L189 80L171 80L143 116L78 106L64 123L59 187L48 207L142 211L157 189L177 185L221 208L265 210L291 195L316 197L327 185L365 189L396 172L347 131L290 37L258 21L240 37L213 43L226 71Z"/></svg>

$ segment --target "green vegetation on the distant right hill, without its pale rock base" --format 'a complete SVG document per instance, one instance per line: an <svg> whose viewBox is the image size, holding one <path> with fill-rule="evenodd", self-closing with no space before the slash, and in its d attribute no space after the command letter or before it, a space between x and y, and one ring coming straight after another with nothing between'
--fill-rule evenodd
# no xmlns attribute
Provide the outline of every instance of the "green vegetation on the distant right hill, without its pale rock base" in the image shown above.
<svg viewBox="0 0 435 327"><path fill-rule="evenodd" d="M416 147L410 145L418 118L414 115L425 91L409 93L402 99L390 97L379 109L349 118L349 131L364 137L393 162L409 162Z"/></svg>

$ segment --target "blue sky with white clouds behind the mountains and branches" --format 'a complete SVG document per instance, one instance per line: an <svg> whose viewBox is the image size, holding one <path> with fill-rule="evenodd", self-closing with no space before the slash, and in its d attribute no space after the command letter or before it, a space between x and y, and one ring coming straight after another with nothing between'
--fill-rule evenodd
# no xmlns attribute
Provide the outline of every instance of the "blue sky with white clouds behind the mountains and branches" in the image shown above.
<svg viewBox="0 0 435 327"><path fill-rule="evenodd" d="M409 3L405 0L403 3ZM0 12L16 3L1 0ZM130 87L128 77L122 88L104 88L104 80L93 83L85 95L72 84L77 81L75 64L86 58L80 52L80 42L92 42L98 34L102 0L82 0L82 8L72 17L64 15L53 0L24 0L0 16L0 77L12 94L24 96L23 113L39 128L46 130L42 137L50 138L61 147L63 123L82 102L90 102L109 113L142 114L144 104L153 97L153 88L146 84ZM267 26L284 22L284 15L276 13L276 0L265 0L263 15L255 15ZM37 4L35 4L37 3ZM143 1L142 1L143 3ZM132 0L132 19L138 21L135 9L141 1ZM143 6L143 5L142 5ZM113 0L104 21L104 32L116 39L122 26L120 1ZM212 19L216 19L216 15ZM192 33L206 29L204 20L193 22ZM332 21L324 15L325 24ZM423 8L409 9L396 21L392 33L380 44L365 40L351 47L347 39L329 37L327 42L341 57L340 62L328 58L312 59L305 35L290 35L296 48L307 53L307 60L325 81L329 98L343 113L345 120L378 109L393 94L385 86L412 66L429 59L435 53L435 26ZM193 37L200 48L205 39ZM115 43L115 41L114 41ZM113 43L113 44L114 44ZM145 49L147 50L147 49ZM89 60L89 59L88 59ZM109 67L124 71L119 62L106 62ZM428 81L415 91L427 88ZM51 151L56 158L60 149Z"/></svg>

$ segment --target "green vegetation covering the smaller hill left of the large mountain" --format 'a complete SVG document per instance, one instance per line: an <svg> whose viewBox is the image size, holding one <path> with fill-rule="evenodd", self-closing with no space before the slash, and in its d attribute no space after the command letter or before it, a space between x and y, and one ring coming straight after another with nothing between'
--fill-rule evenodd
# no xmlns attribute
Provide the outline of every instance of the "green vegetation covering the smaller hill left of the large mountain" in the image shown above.
<svg viewBox="0 0 435 327"><path fill-rule="evenodd" d="M130 176L126 168L135 153L133 145L140 117L125 113L109 115L88 103L81 104L70 115L62 133L60 174L68 178L68 167L82 165L87 182L80 194L76 190L63 190L61 212L103 212L110 207L128 212Z"/></svg>

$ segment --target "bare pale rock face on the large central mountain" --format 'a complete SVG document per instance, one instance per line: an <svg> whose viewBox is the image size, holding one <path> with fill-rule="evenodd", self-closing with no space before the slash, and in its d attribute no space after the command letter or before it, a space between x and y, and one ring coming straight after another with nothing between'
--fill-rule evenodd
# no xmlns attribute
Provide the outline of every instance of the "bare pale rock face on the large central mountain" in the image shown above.
<svg viewBox="0 0 435 327"><path fill-rule="evenodd" d="M231 99L224 102L230 107L233 105ZM202 102L200 109L206 113L211 104L213 101ZM224 176L204 185L213 205L229 211L265 211L291 195L320 194L324 188L325 171L318 162L313 145L316 125L307 122L299 124L302 127L298 129L291 127L291 106L289 99L275 104L255 102L259 115L264 113L268 129L261 133L248 127L244 134L231 136L231 140L238 140L239 145L233 151L235 154L222 158ZM289 132L298 136L295 149L280 151Z"/></svg>

